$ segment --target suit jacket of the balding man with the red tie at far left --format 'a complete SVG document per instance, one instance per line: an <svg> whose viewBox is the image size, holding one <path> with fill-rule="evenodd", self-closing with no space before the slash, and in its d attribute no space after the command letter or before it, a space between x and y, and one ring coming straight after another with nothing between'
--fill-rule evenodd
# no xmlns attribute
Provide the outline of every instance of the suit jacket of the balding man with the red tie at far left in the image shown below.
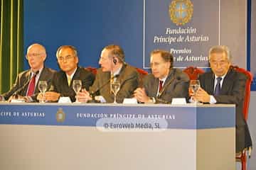
<svg viewBox="0 0 256 170"><path fill-rule="evenodd" d="M55 73L55 70L44 67L40 74L38 82L39 81L47 81L48 85L50 85L50 81L53 79L54 73ZM5 94L2 95L2 96L4 96L5 100L8 100L8 98L11 97L12 95L14 95L14 93L16 93L16 91L19 91L17 93L18 95L26 96L26 91L28 89L28 81L29 81L30 75L31 75L31 69L28 69L28 70L18 74L18 76L16 77L14 86L8 92L6 92ZM36 101L36 96L40 92L38 89L38 82L36 84L36 89L34 91L34 94L33 94L33 96L31 96L33 101ZM25 84L26 84L26 86L24 86Z"/></svg>

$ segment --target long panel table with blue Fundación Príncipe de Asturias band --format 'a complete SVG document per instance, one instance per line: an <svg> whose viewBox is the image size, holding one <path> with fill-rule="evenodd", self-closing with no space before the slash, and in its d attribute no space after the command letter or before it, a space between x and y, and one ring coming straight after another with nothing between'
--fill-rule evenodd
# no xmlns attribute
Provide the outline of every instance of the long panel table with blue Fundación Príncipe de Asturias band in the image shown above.
<svg viewBox="0 0 256 170"><path fill-rule="evenodd" d="M0 103L0 169L235 169L235 105Z"/></svg>

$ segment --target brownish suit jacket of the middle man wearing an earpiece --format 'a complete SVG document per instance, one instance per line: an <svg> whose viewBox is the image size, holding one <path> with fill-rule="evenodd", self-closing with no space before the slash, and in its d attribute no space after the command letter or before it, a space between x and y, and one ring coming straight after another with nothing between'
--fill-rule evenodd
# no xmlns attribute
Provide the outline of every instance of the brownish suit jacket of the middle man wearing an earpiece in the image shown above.
<svg viewBox="0 0 256 170"><path fill-rule="evenodd" d="M137 89L139 74L134 67L124 64L118 79L120 81L120 90L117 93L117 103L122 103L124 98L131 98L133 91ZM102 89L100 89L101 86ZM97 91L97 95L103 96L107 103L113 103L114 94L110 91L110 72L102 72L101 68L98 69L95 82L90 91Z"/></svg>

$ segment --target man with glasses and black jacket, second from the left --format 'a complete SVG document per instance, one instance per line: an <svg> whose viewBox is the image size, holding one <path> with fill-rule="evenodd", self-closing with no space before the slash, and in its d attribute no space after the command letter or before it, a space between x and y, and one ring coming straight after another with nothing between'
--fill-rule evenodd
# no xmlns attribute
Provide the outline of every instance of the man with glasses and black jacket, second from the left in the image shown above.
<svg viewBox="0 0 256 170"><path fill-rule="evenodd" d="M73 81L81 80L82 89L89 89L95 79L94 74L78 67L78 51L72 45L60 46L56 52L60 71L53 76L50 85L50 91L45 94L46 101L58 101L62 96L70 97L71 101L75 101L75 91L73 90ZM38 99L42 98L42 94L38 95Z"/></svg>

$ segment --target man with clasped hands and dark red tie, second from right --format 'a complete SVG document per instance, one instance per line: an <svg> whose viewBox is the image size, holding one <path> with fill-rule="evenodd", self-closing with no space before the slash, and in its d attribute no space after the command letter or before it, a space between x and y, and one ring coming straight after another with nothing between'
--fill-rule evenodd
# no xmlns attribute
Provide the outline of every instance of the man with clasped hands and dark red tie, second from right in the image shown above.
<svg viewBox="0 0 256 170"><path fill-rule="evenodd" d="M171 103L172 98L188 98L189 78L173 68L174 57L165 50L151 52L152 74L144 78L144 86L134 91L143 103Z"/></svg>

